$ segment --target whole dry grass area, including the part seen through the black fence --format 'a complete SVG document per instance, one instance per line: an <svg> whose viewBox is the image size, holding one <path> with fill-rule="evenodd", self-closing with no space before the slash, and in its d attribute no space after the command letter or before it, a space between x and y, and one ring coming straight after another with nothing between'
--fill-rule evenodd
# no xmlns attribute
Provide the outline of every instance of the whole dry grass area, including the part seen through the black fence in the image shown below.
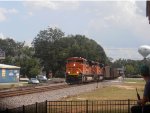
<svg viewBox="0 0 150 113"><path fill-rule="evenodd" d="M87 101L81 100L136 100L135 88L138 88L140 95L143 94L145 82L142 79L125 79L121 84L104 86L92 92L82 93L76 96L63 98L65 102L51 103L49 113L128 113L136 101Z"/></svg>

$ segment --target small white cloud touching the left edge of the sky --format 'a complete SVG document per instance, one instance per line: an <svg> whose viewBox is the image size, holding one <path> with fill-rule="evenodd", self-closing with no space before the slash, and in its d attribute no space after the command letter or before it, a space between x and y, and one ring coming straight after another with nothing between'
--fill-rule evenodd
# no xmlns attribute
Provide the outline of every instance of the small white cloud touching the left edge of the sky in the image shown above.
<svg viewBox="0 0 150 113"><path fill-rule="evenodd" d="M7 14L17 14L18 11L15 8L6 9L0 8L0 22L5 21L7 19Z"/></svg>

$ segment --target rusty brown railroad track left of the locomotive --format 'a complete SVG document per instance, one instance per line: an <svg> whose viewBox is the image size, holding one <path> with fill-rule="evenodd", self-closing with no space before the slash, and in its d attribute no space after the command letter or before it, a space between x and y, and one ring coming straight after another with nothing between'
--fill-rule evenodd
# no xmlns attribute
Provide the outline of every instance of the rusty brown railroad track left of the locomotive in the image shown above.
<svg viewBox="0 0 150 113"><path fill-rule="evenodd" d="M74 85L72 85L74 86ZM37 87L31 87L31 88L22 88L15 91L5 91L0 92L0 98L6 98L6 97L13 97L13 96L20 96L20 95L26 95L26 94L32 94L32 93L39 93L39 92L46 92L51 90L57 90L57 89L63 89L70 87L67 84L63 85L56 85L56 86L37 86Z"/></svg>

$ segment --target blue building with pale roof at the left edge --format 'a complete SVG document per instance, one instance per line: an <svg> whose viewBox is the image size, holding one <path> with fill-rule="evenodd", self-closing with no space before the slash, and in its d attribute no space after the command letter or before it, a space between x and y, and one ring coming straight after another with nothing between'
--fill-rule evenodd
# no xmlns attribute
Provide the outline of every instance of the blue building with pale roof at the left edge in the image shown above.
<svg viewBox="0 0 150 113"><path fill-rule="evenodd" d="M0 83L19 82L20 67L0 64Z"/></svg>

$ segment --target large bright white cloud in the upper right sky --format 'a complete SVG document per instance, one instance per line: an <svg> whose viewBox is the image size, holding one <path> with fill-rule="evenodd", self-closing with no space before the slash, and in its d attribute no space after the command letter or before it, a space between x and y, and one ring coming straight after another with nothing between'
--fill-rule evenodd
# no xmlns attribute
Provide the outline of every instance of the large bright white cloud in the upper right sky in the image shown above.
<svg viewBox="0 0 150 113"><path fill-rule="evenodd" d="M105 4L105 3L104 3ZM93 19L90 23L91 26L96 28L104 27L107 25L109 27L135 27L143 22L147 22L145 16L141 15L143 11L137 7L136 2L131 1L116 1L109 3L109 5L104 5L105 8L99 9L96 13L97 18ZM109 9L105 10L106 7ZM140 12L140 13L138 13ZM100 26L103 24L102 26Z"/></svg>

